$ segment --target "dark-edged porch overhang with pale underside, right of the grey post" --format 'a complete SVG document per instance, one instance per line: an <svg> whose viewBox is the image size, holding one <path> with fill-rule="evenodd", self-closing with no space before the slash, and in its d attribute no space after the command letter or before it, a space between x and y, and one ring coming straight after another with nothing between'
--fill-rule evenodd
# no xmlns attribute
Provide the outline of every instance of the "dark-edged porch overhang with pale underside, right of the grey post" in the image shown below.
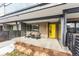
<svg viewBox="0 0 79 59"><path fill-rule="evenodd" d="M66 14L67 21L79 21L79 7L65 9L63 13Z"/></svg>

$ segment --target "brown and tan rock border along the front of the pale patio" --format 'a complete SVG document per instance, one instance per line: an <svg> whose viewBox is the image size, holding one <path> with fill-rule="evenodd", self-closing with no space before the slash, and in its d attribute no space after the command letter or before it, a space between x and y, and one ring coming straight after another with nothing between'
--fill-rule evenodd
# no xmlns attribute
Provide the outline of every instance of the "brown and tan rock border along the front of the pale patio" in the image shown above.
<svg viewBox="0 0 79 59"><path fill-rule="evenodd" d="M16 42L15 47L18 51L25 53L26 55L33 56L71 56L69 52L62 52L53 49L43 48L27 44L23 42Z"/></svg>

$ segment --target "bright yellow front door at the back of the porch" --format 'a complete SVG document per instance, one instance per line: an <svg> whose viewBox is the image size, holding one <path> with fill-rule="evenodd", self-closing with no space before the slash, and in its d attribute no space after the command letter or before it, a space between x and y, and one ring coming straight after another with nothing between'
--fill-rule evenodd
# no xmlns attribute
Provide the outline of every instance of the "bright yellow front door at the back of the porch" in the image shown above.
<svg viewBox="0 0 79 59"><path fill-rule="evenodd" d="M56 24L49 24L49 38L51 39L56 39L57 35L56 35Z"/></svg>

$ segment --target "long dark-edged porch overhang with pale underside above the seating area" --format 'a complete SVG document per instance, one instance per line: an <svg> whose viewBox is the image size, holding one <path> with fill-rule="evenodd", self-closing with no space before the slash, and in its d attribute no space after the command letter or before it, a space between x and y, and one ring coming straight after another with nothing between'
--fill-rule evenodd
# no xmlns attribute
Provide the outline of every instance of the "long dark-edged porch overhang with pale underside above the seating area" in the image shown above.
<svg viewBox="0 0 79 59"><path fill-rule="evenodd" d="M31 23L31 22L50 22L50 21L53 21L53 22L56 22L58 20L54 20L56 18L61 18L63 17L64 15L63 14L60 14L60 15L51 15L51 16L45 16L45 17L38 17L38 18L30 18L30 19L19 19L19 20L15 20L15 21L4 21L4 20L0 20L0 24L3 24L3 23L12 23L12 22L27 22L27 23Z"/></svg>

